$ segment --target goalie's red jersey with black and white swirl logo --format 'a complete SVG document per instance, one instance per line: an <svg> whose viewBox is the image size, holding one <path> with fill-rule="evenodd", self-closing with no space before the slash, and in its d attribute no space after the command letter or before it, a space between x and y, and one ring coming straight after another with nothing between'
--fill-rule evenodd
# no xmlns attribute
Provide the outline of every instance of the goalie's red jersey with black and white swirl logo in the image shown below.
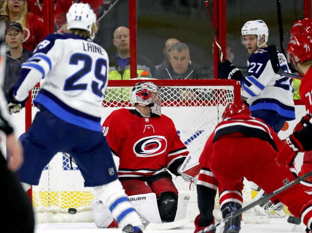
<svg viewBox="0 0 312 233"><path fill-rule="evenodd" d="M157 180L177 173L188 155L173 121L152 114L143 118L134 109L113 111L102 125L112 152L120 158L119 179Z"/></svg>

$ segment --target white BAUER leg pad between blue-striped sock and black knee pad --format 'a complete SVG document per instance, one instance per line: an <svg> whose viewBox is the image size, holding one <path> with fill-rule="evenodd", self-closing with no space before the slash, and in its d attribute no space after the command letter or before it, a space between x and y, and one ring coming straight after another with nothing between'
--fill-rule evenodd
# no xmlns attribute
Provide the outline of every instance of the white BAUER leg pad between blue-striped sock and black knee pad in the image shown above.
<svg viewBox="0 0 312 233"><path fill-rule="evenodd" d="M135 210L151 223L161 223L155 193L146 193L129 196Z"/></svg>

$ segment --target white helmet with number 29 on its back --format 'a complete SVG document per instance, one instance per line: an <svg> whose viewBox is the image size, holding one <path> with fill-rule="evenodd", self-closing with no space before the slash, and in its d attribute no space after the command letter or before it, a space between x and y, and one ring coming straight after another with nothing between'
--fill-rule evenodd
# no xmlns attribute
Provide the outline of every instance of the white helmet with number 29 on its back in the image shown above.
<svg viewBox="0 0 312 233"><path fill-rule="evenodd" d="M92 33L96 15L88 3L74 3L66 14L67 30L81 29Z"/></svg>

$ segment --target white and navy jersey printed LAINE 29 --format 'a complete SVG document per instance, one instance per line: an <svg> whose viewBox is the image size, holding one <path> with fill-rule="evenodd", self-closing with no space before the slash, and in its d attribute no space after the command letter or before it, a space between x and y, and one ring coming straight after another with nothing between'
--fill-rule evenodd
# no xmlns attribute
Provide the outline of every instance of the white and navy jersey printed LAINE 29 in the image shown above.
<svg viewBox="0 0 312 233"><path fill-rule="evenodd" d="M68 33L50 34L37 46L33 56L22 64L21 77L15 89L16 98L24 100L29 83L35 85L42 78L41 92L35 103L53 113L55 104L62 108L65 104L68 112L74 113L70 111L73 108L100 117L108 63L106 51L90 38Z"/></svg>

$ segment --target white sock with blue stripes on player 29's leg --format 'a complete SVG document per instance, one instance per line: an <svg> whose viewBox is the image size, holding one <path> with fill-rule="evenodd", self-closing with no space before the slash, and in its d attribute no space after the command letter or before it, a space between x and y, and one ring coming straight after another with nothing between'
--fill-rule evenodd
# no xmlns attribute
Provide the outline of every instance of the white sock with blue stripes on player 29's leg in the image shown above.
<svg viewBox="0 0 312 233"><path fill-rule="evenodd" d="M119 222L119 226L128 224L144 229L139 215L128 200L124 189L118 179L104 185L96 186L95 196L108 206L113 217Z"/></svg>

